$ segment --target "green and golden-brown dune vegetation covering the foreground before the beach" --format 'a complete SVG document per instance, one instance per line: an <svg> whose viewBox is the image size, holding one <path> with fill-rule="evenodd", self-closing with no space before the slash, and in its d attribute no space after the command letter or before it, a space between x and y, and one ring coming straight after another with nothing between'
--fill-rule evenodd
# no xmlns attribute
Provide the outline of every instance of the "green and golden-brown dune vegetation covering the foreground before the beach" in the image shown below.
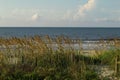
<svg viewBox="0 0 120 80"><path fill-rule="evenodd" d="M116 43L116 39L113 41ZM100 76L95 67L107 65L113 70L117 67L110 77L119 77L118 42L114 48L96 50L94 56L86 56L81 40L76 41L79 49L75 49L72 39L65 36L0 38L0 80L111 80L109 76Z"/></svg>

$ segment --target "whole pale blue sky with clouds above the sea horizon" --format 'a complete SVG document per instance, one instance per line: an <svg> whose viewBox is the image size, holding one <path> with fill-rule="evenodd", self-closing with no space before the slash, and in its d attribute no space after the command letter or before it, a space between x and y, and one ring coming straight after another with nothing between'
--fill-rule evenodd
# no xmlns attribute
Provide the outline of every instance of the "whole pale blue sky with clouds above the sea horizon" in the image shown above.
<svg viewBox="0 0 120 80"><path fill-rule="evenodd" d="M0 27L120 27L120 0L0 0Z"/></svg>

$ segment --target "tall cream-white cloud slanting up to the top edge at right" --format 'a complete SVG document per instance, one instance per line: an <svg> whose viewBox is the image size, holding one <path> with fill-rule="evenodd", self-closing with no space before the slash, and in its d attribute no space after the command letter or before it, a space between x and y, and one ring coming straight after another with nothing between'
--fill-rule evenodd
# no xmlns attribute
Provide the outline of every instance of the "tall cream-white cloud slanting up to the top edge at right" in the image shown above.
<svg viewBox="0 0 120 80"><path fill-rule="evenodd" d="M92 10L94 8L94 5L95 5L95 0L88 0L86 4L80 6L77 13L74 15L74 19L78 19L79 17L85 16L86 14L85 12Z"/></svg>

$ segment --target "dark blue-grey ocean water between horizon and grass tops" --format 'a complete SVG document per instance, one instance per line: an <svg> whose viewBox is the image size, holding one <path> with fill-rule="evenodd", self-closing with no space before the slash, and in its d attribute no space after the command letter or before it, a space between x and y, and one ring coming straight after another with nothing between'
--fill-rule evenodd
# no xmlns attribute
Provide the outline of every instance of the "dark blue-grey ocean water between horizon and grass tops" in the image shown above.
<svg viewBox="0 0 120 80"><path fill-rule="evenodd" d="M51 37L65 35L80 39L120 38L120 28L95 27L0 27L0 37L24 37L49 35Z"/></svg>

